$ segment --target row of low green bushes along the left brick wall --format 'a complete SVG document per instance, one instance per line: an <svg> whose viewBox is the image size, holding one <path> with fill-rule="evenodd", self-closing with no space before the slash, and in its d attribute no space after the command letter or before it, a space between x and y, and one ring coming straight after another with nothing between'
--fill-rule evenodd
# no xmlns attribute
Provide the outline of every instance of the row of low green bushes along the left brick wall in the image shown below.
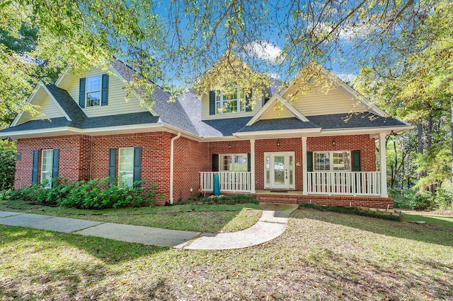
<svg viewBox="0 0 453 301"><path fill-rule="evenodd" d="M61 180L59 182L62 182ZM4 199L23 199L47 206L65 206L80 209L120 208L127 206L145 206L152 204L155 186L149 191L142 187L144 182L134 183L134 187L108 186L109 179L91 179L89 181L63 181L52 188L45 189L45 184L33 184L30 187L7 191Z"/></svg>

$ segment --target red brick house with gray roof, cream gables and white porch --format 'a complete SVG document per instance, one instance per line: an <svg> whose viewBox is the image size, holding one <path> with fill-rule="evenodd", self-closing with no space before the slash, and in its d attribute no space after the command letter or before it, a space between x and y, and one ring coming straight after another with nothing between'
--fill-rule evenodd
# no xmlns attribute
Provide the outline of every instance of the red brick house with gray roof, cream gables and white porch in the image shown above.
<svg viewBox="0 0 453 301"><path fill-rule="evenodd" d="M376 146L385 167L386 136L411 126L338 78L327 94L304 83L311 85L308 93L290 105L286 98L303 80L294 78L285 90L270 88L253 109L221 91L190 91L168 102L170 94L156 86L149 109L138 95L125 102L132 73L114 60L108 72L68 71L55 84L38 84L29 101L46 118L23 112L0 131L0 138L17 141L15 188L55 177L110 175L120 184L155 184L162 194L156 201L163 204L200 188L209 194L218 173L223 194L392 208Z"/></svg>

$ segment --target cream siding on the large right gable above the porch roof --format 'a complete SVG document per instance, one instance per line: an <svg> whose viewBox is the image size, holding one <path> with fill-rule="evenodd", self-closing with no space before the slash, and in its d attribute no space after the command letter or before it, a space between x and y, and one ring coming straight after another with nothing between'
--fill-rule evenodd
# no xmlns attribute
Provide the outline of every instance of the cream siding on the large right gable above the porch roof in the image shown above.
<svg viewBox="0 0 453 301"><path fill-rule="evenodd" d="M294 85L289 89L288 93L292 94L296 89L297 87ZM354 100L337 88L333 89L330 93L325 93L319 88L311 88L308 94L297 95L297 99L294 100L292 105L307 117L364 111L360 105L356 105Z"/></svg>

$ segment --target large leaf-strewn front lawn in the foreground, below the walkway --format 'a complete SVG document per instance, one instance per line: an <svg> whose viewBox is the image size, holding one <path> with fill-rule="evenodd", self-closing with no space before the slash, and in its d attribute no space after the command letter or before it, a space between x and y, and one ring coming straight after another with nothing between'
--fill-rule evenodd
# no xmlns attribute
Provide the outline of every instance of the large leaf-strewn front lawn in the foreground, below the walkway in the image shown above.
<svg viewBox="0 0 453 301"><path fill-rule="evenodd" d="M0 226L2 300L450 300L453 228L299 208L256 247L188 251Z"/></svg>

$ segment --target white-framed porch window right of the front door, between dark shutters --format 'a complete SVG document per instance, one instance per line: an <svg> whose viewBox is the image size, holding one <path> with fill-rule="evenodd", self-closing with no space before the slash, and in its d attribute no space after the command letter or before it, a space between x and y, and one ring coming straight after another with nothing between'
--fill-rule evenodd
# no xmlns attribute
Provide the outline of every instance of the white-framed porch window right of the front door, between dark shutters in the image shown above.
<svg viewBox="0 0 453 301"><path fill-rule="evenodd" d="M314 170L351 170L350 151L314 153Z"/></svg>

